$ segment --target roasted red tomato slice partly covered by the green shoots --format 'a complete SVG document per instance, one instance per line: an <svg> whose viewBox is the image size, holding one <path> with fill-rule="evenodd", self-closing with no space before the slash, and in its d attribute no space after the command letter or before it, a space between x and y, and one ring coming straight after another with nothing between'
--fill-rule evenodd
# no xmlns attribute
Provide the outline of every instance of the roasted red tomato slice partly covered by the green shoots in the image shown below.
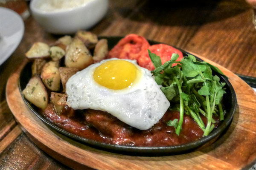
<svg viewBox="0 0 256 170"><path fill-rule="evenodd" d="M162 60L162 64L169 61L173 53L177 53L179 55L179 58L176 61L180 61L183 57L183 54L180 50L166 44L151 45L148 49L151 51L151 53L154 53L160 56ZM141 67L147 68L150 71L155 69L153 63L151 62L151 59L149 58L147 50L143 51L143 54L138 59L138 64Z"/></svg>

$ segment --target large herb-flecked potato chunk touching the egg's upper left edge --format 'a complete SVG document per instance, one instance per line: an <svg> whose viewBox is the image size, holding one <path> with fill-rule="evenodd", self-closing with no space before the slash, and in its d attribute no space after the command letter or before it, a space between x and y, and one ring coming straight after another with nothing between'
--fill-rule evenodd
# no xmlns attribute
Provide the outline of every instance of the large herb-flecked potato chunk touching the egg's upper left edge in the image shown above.
<svg viewBox="0 0 256 170"><path fill-rule="evenodd" d="M71 44L67 46L65 65L69 68L82 70L92 63L93 57L90 55L90 51L81 40L75 38Z"/></svg>

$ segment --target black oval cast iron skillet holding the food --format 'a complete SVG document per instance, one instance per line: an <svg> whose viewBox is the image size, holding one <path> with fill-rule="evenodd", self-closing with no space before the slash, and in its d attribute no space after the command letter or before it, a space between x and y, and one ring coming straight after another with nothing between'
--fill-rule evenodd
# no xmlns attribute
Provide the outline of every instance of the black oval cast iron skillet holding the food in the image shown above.
<svg viewBox="0 0 256 170"><path fill-rule="evenodd" d="M109 49L113 48L116 43L121 40L123 37L99 37L99 39L105 38L108 40L108 47ZM148 42L153 44L159 44L160 42L151 41L148 40ZM179 48L177 48L179 49ZM179 49L182 51L183 56L186 56L187 54L190 54L182 49ZM196 57L196 56L195 56ZM202 59L196 57L199 61L202 61ZM236 110L236 93L228 81L227 77L222 76L218 73L215 73L213 71L213 74L218 75L220 77L221 82L225 82L225 88L227 89L227 94L224 94L223 96L223 108L226 111L226 114L224 116L224 121L221 121L219 126L213 130L208 136L204 136L201 139L198 139L197 141L190 142L187 144L181 144L177 146L168 146L168 147L133 147L133 146L122 146L122 145L115 145L115 144L106 144L102 142L97 142L91 139L85 139L83 137L74 135L72 133L69 133L65 130L62 130L61 128L54 125L52 122L49 122L41 113L38 113L36 110L35 105L30 103L28 100L24 98L22 95L22 90L26 87L26 84L29 82L29 79L32 77L31 73L31 65L32 63L29 62L26 64L26 66L23 68L23 70L20 73L20 79L18 81L18 87L20 90L20 94L26 103L26 105L29 107L29 109L38 116L39 119L41 119L42 122L44 122L46 125L51 127L52 129L70 137L73 138L79 142L82 142L84 144L90 145L92 147L96 147L102 150L108 150L111 152L117 152L122 154L129 154L129 155L142 155L142 156L163 156L163 155L169 155L169 154L180 154L184 152L190 152L192 150L195 150L198 147L203 146L204 144L207 144L209 142L212 142L216 140L218 137L221 136L221 134L224 132L225 129L230 125L233 115Z"/></svg>

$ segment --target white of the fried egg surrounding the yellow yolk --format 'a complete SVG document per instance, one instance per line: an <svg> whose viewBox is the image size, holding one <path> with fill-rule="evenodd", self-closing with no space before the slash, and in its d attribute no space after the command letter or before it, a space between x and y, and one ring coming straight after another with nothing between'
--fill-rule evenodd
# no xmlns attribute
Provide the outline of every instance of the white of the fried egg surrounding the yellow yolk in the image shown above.
<svg viewBox="0 0 256 170"><path fill-rule="evenodd" d="M130 87L113 90L95 82L95 68L115 59L102 60L70 77L66 84L67 105L73 109L106 111L132 127L149 129L163 117L170 103L151 72L138 66L136 60L125 59L141 72L140 79Z"/></svg>

